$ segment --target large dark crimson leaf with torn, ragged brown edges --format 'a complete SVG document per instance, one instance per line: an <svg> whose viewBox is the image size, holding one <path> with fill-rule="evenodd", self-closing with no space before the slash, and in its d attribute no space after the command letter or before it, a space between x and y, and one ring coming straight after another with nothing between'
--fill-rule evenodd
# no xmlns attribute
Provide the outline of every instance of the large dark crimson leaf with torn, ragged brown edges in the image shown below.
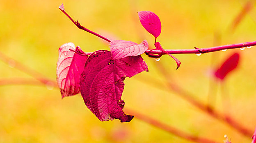
<svg viewBox="0 0 256 143"><path fill-rule="evenodd" d="M131 121L133 116L124 114L122 110L123 80L142 71L148 71L148 67L141 56L111 60L110 51L95 51L87 59L80 76L85 105L100 121Z"/></svg>

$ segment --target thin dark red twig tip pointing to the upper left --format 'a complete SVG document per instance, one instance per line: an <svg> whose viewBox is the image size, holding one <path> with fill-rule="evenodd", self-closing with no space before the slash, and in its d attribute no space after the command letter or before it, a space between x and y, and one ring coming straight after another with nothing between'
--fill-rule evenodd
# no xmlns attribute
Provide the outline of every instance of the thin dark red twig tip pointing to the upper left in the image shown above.
<svg viewBox="0 0 256 143"><path fill-rule="evenodd" d="M61 6L63 6L63 4L62 4ZM99 38L102 38L103 40L106 40L107 42L111 42L111 40L109 40L108 38L105 38L105 37L101 36L100 34L97 34L97 33L95 33L94 31L91 31L91 30L89 30L89 29L83 27L82 25L80 25L80 23L78 22L78 20L77 20L77 21L74 21L74 20L66 13L66 11L64 10L64 6L63 6L63 7L61 7L61 6L59 7L59 9L60 9L60 10L75 24L75 26L77 26L79 29L82 29L82 30L84 30L84 31L87 31L87 32L89 32L90 34L93 34L93 35L95 35L95 36L98 36Z"/></svg>

